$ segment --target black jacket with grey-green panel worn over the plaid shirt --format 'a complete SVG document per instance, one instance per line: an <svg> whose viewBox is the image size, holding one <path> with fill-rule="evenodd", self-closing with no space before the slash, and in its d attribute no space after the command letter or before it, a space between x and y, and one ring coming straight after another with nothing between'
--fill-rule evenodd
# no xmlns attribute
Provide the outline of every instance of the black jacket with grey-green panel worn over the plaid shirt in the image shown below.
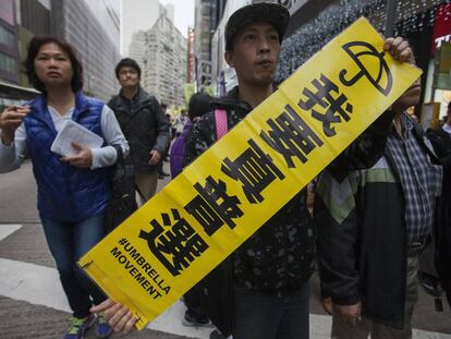
<svg viewBox="0 0 451 339"><path fill-rule="evenodd" d="M418 129L413 134L426 158L424 134ZM362 302L365 317L402 328L407 271L405 202L390 149L386 147L374 167L339 180L324 171L314 210L325 293L340 305Z"/></svg>

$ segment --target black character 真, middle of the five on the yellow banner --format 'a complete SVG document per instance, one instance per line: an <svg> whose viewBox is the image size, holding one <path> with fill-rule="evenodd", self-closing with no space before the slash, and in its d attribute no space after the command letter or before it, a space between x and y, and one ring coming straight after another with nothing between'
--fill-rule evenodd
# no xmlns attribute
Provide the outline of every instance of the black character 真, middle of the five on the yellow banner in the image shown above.
<svg viewBox="0 0 451 339"><path fill-rule="evenodd" d="M276 179L285 175L276 167L269 155L251 138L246 148L234 161L226 158L221 171L241 182L244 194L251 204L264 201L261 192Z"/></svg>

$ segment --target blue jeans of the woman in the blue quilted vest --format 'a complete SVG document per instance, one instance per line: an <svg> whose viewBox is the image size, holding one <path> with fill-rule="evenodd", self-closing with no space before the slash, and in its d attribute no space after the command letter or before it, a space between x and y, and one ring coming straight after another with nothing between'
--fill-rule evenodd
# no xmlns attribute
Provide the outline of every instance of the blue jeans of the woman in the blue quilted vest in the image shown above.
<svg viewBox="0 0 451 339"><path fill-rule="evenodd" d="M105 237L105 214L80 222L59 222L42 216L40 219L73 315L85 317L93 304L90 298L99 304L106 296L76 262Z"/></svg>

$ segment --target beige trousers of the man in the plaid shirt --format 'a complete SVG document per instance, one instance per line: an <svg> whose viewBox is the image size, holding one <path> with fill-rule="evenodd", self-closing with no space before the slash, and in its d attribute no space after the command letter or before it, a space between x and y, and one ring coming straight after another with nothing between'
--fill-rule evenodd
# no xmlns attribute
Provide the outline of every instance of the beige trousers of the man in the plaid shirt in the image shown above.
<svg viewBox="0 0 451 339"><path fill-rule="evenodd" d="M332 317L332 339L411 339L412 338L412 314L418 300L417 271L418 256L407 257L407 281L405 290L404 328L397 329L377 324L373 320L362 318L355 327L348 325L338 316Z"/></svg>

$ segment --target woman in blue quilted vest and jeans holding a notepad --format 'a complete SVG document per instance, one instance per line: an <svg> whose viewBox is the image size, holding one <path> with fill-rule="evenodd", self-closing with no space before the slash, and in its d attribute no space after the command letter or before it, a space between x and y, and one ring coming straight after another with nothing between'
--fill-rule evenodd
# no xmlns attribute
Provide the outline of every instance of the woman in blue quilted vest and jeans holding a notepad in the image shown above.
<svg viewBox="0 0 451 339"><path fill-rule="evenodd" d="M102 302L105 295L76 262L105 235L109 167L118 157L111 145L120 145L124 154L129 145L108 106L83 95L82 64L70 45L34 37L25 70L41 94L26 106L8 107L0 116L0 172L17 169L29 155L44 232L73 311L64 339L83 338L94 323L98 337L105 338L111 332L108 323L101 314L97 322L89 315L92 303ZM51 145L69 120L99 135L103 145L89 148L72 143L74 156L52 153Z"/></svg>

